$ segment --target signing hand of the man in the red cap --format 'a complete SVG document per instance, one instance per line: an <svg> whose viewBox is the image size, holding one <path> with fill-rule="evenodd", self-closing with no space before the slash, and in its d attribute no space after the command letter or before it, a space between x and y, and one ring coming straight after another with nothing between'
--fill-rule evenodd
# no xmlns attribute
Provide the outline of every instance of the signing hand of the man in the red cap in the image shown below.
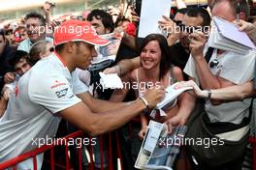
<svg viewBox="0 0 256 170"><path fill-rule="evenodd" d="M144 94L144 99L147 101L150 109L154 108L165 97L165 89L163 87L155 87L148 89Z"/></svg>

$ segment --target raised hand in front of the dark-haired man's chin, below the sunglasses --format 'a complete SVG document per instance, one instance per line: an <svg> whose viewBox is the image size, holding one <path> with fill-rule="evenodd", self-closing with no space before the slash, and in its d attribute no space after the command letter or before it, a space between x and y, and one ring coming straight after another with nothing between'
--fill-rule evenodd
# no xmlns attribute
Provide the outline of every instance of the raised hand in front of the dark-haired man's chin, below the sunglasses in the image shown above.
<svg viewBox="0 0 256 170"><path fill-rule="evenodd" d="M203 32L194 32L189 35L189 49L194 59L204 57L204 47L207 42L207 38Z"/></svg>

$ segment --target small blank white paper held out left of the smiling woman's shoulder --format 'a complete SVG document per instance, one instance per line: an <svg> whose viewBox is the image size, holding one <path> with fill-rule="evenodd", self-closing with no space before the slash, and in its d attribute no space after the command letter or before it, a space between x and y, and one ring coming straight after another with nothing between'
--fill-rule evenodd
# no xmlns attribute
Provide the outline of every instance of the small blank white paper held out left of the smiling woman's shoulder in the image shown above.
<svg viewBox="0 0 256 170"><path fill-rule="evenodd" d="M100 83L103 86L104 89L122 89L123 84L120 79L120 77L117 75L117 73L109 73L105 74L103 72L99 72L101 79Z"/></svg>

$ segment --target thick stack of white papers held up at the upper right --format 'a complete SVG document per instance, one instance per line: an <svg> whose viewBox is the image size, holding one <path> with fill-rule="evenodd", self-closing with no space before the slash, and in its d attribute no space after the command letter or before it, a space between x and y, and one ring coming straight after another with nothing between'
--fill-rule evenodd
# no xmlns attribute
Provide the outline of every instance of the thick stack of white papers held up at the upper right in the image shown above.
<svg viewBox="0 0 256 170"><path fill-rule="evenodd" d="M232 22L213 16L213 28L209 34L208 46L240 54L256 49L246 33L240 32Z"/></svg>

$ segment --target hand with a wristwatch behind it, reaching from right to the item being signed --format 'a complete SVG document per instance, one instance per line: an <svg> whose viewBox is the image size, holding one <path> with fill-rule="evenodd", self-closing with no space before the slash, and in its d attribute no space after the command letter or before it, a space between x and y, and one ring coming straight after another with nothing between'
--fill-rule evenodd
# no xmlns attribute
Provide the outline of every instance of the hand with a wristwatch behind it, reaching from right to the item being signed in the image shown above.
<svg viewBox="0 0 256 170"><path fill-rule="evenodd" d="M180 81L178 83L176 83L175 89L180 89L180 88L184 88L184 87L192 87L192 90L188 90L187 92L190 93L193 96L199 97L199 98L207 98L208 97L208 93L205 91L202 91L198 85L195 83L195 81L193 80L189 80L189 81Z"/></svg>

